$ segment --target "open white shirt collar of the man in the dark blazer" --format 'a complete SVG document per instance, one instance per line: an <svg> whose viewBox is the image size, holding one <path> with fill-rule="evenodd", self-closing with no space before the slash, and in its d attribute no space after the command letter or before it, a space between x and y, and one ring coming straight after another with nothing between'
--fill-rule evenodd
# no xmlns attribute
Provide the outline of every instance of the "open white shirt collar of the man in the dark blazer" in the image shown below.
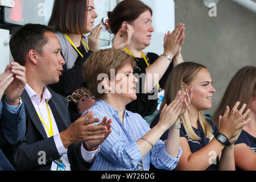
<svg viewBox="0 0 256 182"><path fill-rule="evenodd" d="M30 87L30 85L26 84L25 87L28 96L31 98L31 101L35 102L36 104L40 104L41 102L41 97L38 96L38 94L35 93L35 91ZM48 101L52 98L52 94L49 92L46 86L44 86L43 92L42 92L42 101L46 100L47 103Z"/></svg>

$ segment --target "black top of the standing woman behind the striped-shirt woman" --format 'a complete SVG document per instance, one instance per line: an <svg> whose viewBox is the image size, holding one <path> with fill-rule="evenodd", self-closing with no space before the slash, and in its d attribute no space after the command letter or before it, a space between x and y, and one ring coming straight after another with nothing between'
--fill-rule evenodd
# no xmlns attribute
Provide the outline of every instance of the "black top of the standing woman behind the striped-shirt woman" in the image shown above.
<svg viewBox="0 0 256 182"><path fill-rule="evenodd" d="M156 59L158 59L159 56L156 53L148 52L146 57L148 58L148 64L152 64L155 62ZM139 80L136 84L137 100L127 104L126 109L129 111L132 111L133 113L138 113L142 117L145 117L147 115L151 115L152 113L154 113L154 111L156 110L156 107L158 106L158 99L156 98L155 100L149 100L148 96L150 95L152 96L154 95L154 93L152 94L143 93L142 89L144 89L144 78L145 78L143 75L146 75L147 64L145 63L143 58L137 57L137 60L135 59L137 63L137 68L134 69L134 74L137 73L140 76L140 77L137 77L136 76L137 74L134 75ZM163 77L159 81L159 85L162 89L164 89L164 85L166 84L166 80L168 78L169 73L172 71L172 67L173 66L171 63L167 68L167 71L164 73Z"/></svg>

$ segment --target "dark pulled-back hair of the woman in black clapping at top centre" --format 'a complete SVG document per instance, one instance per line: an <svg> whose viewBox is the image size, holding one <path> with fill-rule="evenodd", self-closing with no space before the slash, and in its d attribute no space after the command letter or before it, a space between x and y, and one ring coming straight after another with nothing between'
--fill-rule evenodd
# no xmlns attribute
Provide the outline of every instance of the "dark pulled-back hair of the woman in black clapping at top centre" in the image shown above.
<svg viewBox="0 0 256 182"><path fill-rule="evenodd" d="M121 1L112 12L108 13L109 32L117 34L124 21L133 22L147 10L152 16L152 9L139 0Z"/></svg>

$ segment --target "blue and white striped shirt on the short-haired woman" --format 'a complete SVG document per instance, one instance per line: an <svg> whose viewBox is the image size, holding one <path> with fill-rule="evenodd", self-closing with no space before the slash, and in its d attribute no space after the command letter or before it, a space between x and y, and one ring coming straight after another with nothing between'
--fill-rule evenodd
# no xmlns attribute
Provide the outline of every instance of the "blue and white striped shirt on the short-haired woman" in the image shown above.
<svg viewBox="0 0 256 182"><path fill-rule="evenodd" d="M94 111L94 118L100 118L101 121L105 116L112 119L112 133L101 144L100 153L96 156L95 163L90 170L138 171L142 168L138 166L140 162L146 171L150 168L150 162L159 169L172 170L177 166L182 154L181 148L177 158L172 158L166 151L166 145L160 139L142 159L136 141L150 131L150 127L141 115L125 109L122 125L118 111L103 100L96 101L90 110Z"/></svg>

